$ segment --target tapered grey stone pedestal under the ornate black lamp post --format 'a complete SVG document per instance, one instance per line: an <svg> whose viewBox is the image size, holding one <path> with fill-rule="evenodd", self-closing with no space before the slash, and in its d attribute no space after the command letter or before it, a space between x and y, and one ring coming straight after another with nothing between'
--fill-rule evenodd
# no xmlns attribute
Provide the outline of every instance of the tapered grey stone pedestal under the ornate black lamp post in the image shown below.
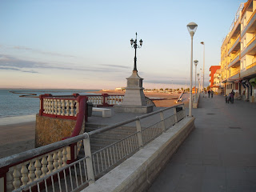
<svg viewBox="0 0 256 192"><path fill-rule="evenodd" d="M115 112L123 113L150 113L153 106L147 106L146 98L143 93L142 80L138 76L137 70L133 70L133 74L127 79L126 94L123 102L119 106L114 106Z"/></svg>

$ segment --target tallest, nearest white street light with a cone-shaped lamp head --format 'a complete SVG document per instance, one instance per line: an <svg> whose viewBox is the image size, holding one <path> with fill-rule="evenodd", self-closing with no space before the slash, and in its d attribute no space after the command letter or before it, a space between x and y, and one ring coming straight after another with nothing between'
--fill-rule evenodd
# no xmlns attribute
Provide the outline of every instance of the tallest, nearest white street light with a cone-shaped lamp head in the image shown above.
<svg viewBox="0 0 256 192"><path fill-rule="evenodd" d="M193 70L193 36L198 28L198 25L194 22L190 22L186 25L187 30L191 36L191 59L190 59L190 106L189 106L189 117L192 117L192 70Z"/></svg>

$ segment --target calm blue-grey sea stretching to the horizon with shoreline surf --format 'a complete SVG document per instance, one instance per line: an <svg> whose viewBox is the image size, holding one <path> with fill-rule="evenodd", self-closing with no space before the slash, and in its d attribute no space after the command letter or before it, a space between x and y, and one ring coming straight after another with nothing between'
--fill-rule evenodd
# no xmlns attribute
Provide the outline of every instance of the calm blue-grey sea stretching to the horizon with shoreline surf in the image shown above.
<svg viewBox="0 0 256 192"><path fill-rule="evenodd" d="M0 126L35 121L35 114L38 114L40 107L40 94L84 95L91 91L98 90L0 90ZM29 97L20 97L23 95Z"/></svg>

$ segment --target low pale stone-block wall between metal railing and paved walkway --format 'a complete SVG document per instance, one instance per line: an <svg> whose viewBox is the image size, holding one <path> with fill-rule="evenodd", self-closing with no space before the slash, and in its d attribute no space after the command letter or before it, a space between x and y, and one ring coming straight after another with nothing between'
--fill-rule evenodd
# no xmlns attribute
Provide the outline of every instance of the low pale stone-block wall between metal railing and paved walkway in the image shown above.
<svg viewBox="0 0 256 192"><path fill-rule="evenodd" d="M194 130L195 118L184 118L83 192L145 191L182 142Z"/></svg>

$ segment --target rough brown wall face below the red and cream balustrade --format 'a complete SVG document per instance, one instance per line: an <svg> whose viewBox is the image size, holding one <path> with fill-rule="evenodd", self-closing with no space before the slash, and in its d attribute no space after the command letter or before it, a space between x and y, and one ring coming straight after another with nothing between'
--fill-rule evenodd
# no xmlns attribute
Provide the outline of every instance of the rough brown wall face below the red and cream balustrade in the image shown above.
<svg viewBox="0 0 256 192"><path fill-rule="evenodd" d="M35 147L61 141L69 137L76 124L75 120L36 116ZM65 129L64 129L65 127Z"/></svg>

